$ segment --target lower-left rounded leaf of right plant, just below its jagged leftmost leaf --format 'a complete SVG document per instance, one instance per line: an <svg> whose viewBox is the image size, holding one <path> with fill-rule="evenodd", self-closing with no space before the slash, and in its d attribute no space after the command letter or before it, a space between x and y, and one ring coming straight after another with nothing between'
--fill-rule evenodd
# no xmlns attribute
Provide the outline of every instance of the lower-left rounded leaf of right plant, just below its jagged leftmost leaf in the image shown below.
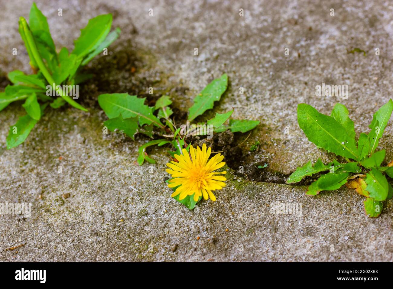
<svg viewBox="0 0 393 289"><path fill-rule="evenodd" d="M309 186L306 195L314 196L321 191L337 190L347 182L347 177L349 173L326 173Z"/></svg>

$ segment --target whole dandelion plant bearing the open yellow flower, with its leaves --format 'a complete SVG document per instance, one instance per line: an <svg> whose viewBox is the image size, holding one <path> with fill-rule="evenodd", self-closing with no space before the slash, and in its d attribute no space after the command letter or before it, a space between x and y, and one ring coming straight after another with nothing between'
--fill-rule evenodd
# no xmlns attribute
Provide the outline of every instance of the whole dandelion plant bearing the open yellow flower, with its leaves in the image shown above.
<svg viewBox="0 0 393 289"><path fill-rule="evenodd" d="M222 94L228 87L228 75L214 79L209 83L194 99L194 104L189 108L187 125L176 125L174 122L172 100L170 96L163 95L155 103L154 107L145 105L145 98L131 96L127 93L101 94L98 103L108 116L104 122L105 127L110 131L123 131L134 140L138 133L145 134L152 140L141 145L138 154L138 164L142 165L145 160L155 164L147 154L147 148L158 145L169 148L168 153L173 160L168 164L174 179L170 179L169 187L174 189L172 197L181 202L190 210L194 208L202 196L204 199L215 201L213 190L221 189L225 183L222 176L216 176L213 172L224 166L221 162L224 156L217 154L208 160L213 154L211 148L206 149L206 144L196 149L191 142L187 143L187 135L209 135L220 133L229 129L231 132L245 133L255 128L259 121L256 120L229 120L233 110L219 114L206 122L195 122L198 116L202 116L205 111L212 109L214 102L219 101ZM191 123L193 122L193 123ZM191 123L191 124L190 124ZM210 135L211 136L211 135ZM187 166L182 165L187 164ZM180 171L179 171L180 170Z"/></svg>

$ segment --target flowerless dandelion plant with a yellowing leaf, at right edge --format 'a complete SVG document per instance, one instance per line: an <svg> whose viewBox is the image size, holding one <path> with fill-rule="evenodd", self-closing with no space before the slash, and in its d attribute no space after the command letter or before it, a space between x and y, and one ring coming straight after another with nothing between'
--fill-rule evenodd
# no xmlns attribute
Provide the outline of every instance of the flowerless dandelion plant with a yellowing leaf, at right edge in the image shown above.
<svg viewBox="0 0 393 289"><path fill-rule="evenodd" d="M375 112L369 125L369 133L360 133L356 142L354 123L344 105L334 105L331 115L328 116L310 105L299 104L299 127L310 142L341 158L329 164L323 164L320 159L314 165L309 161L297 168L286 183L299 182L304 177L324 173L308 187L306 195L314 196L321 191L337 190L345 184L366 197L366 215L378 217L382 212L382 201L390 199L393 193L392 186L386 179L386 175L393 178L393 162L381 166L385 159L385 150L376 151L392 110L393 101L390 99Z"/></svg>

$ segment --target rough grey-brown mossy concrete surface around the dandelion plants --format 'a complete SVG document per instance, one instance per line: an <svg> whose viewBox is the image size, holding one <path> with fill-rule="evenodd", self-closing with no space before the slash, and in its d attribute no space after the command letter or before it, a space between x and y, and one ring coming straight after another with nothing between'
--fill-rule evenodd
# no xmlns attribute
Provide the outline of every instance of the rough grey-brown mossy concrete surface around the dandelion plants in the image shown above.
<svg viewBox="0 0 393 289"><path fill-rule="evenodd" d="M332 157L299 129L298 103L329 113L340 101L360 133L368 132L375 110L391 98L389 2L100 0L37 5L48 17L57 48L72 48L79 29L101 13L112 13L122 34L110 46L110 55L97 57L87 68L94 74L81 85L88 113L48 109L28 140L7 151L9 125L24 112L18 103L0 112L0 202L33 206L29 218L0 215L0 249L26 243L0 253L1 261L393 261L391 200L384 202L380 217L367 219L364 198L354 191L306 197L304 186L278 184L309 159ZM7 72L29 72L17 29L18 17L28 17L30 6L22 0L0 4L2 88ZM62 17L57 16L59 8ZM148 16L150 8L153 16ZM239 16L241 8L244 16ZM12 55L14 47L17 56ZM353 48L367 54L348 53ZM106 117L96 99L104 92L148 96L153 87L154 97L169 93L184 114L195 94L224 72L230 78L228 91L200 120L231 107L234 118L260 120L242 145L249 162L245 169L268 163L261 174L270 182L250 182L228 168L230 180L216 194L217 202L202 201L189 211L171 199L163 181L169 160L165 150L152 149L156 165L136 165L138 145L146 139L103 135ZM315 86L323 82L348 85L348 99L315 96ZM240 87L244 95L239 95ZM389 160L392 132L389 123L380 142ZM245 136L236 138L241 142ZM248 153L257 140L259 151ZM271 214L276 201L301 204L302 214Z"/></svg>

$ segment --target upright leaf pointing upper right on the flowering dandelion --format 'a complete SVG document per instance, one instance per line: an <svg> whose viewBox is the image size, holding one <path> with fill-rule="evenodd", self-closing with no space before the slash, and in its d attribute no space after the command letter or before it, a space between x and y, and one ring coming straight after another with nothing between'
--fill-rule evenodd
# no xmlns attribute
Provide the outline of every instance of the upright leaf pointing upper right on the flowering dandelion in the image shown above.
<svg viewBox="0 0 393 289"><path fill-rule="evenodd" d="M213 108L213 103L219 101L228 87L228 75L223 74L214 79L194 98L194 104L188 109L188 120L191 121L203 114L206 110Z"/></svg>

